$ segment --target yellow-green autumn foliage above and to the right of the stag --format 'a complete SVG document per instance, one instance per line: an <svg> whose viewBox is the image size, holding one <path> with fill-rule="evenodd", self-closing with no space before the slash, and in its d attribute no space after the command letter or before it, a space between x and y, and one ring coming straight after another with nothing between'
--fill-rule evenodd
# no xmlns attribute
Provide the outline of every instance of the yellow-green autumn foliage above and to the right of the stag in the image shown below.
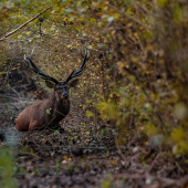
<svg viewBox="0 0 188 188"><path fill-rule="evenodd" d="M174 154L188 153L186 0L14 0L0 7L1 38L51 7L42 22L33 21L1 48L19 44L25 52L35 46L38 64L48 65L56 79L80 64L77 49L91 50L90 65L73 92L91 118L115 122L119 132L161 135L159 143Z"/></svg>

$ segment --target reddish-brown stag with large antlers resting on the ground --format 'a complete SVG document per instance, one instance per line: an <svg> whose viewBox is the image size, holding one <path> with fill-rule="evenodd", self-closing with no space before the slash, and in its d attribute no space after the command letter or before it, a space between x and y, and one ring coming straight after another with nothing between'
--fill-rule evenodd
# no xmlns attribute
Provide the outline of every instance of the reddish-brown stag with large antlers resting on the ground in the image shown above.
<svg viewBox="0 0 188 188"><path fill-rule="evenodd" d="M45 80L45 84L50 88L54 88L50 97L45 101L35 103L25 107L18 116L15 126L20 132L28 132L34 129L44 128L58 128L59 123L70 112L69 90L75 87L77 79L70 82L73 77L82 74L85 69L85 63L88 60L88 51L85 51L85 56L82 65L77 71L73 71L64 82L59 82L54 77L45 75L35 64L32 62L32 53L30 58L24 61L33 69L33 71L41 75L41 79Z"/></svg>

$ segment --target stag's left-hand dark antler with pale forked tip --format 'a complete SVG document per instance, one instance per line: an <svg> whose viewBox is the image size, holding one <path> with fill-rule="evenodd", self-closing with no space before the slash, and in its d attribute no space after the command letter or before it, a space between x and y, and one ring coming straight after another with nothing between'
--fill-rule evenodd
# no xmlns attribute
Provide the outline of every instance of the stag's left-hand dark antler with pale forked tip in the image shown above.
<svg viewBox="0 0 188 188"><path fill-rule="evenodd" d="M24 61L25 61L27 63L29 63L30 67L32 67L32 70L33 70L35 73L38 73L38 74L40 74L40 75L42 76L41 79L43 79L43 80L49 80L49 81L52 81L52 82L54 82L55 84L58 84L59 81L56 81L55 79L53 79L53 77L51 77L51 76L45 75L45 74L32 62L31 59L32 59L33 51L34 51L34 49L32 50L30 58L28 58L29 60L25 59L25 54L24 54Z"/></svg>

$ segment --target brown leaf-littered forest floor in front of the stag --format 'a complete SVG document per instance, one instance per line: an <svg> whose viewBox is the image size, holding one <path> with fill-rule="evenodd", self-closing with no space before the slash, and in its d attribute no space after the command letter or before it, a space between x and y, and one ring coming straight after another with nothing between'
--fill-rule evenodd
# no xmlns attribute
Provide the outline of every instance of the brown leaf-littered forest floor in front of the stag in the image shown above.
<svg viewBox="0 0 188 188"><path fill-rule="evenodd" d="M21 109L17 111L18 115ZM94 123L71 106L63 133L19 133L11 105L1 112L1 133L13 148L20 188L163 188L188 187L188 166L171 152L150 148L140 137L127 135L118 146L116 128Z"/></svg>

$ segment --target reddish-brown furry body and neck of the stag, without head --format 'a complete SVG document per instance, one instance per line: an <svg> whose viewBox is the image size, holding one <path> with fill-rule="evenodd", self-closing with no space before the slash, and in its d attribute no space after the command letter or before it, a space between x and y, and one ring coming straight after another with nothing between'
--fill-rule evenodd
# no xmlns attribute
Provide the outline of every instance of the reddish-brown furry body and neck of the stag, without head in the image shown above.
<svg viewBox="0 0 188 188"><path fill-rule="evenodd" d="M60 95L61 93L53 92L48 100L24 108L15 122L17 129L28 132L44 129L46 127L55 128L59 126L59 122L63 119L70 111L69 98L63 98ZM46 113L46 109L50 109L50 114Z"/></svg>

